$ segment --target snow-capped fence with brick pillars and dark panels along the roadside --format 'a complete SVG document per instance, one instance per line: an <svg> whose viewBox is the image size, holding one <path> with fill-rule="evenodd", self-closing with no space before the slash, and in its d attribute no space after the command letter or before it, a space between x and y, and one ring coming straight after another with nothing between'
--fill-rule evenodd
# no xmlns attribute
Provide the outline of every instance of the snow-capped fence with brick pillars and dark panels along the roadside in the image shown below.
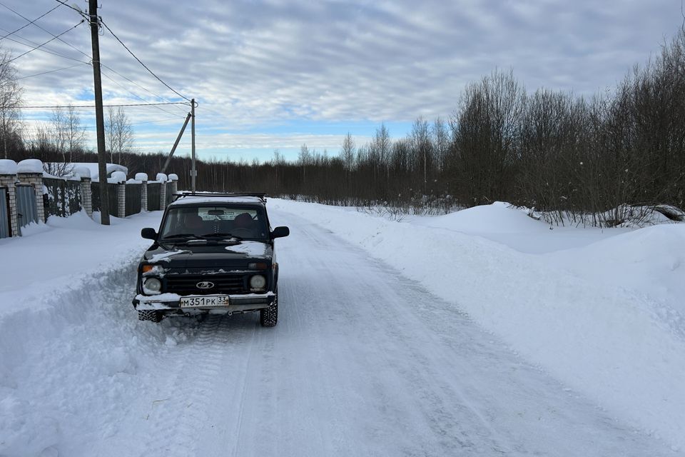
<svg viewBox="0 0 685 457"><path fill-rule="evenodd" d="M36 159L16 162L0 159L0 238L21 236L21 227L41 223L48 216L66 217L86 211L100 211L100 186L107 186L108 212L127 217L141 211L158 211L171 203L178 176L158 174L155 181L136 174L126 181L126 173L114 171L107 182L91 181L86 167L75 167L73 176L61 178L43 171Z"/></svg>

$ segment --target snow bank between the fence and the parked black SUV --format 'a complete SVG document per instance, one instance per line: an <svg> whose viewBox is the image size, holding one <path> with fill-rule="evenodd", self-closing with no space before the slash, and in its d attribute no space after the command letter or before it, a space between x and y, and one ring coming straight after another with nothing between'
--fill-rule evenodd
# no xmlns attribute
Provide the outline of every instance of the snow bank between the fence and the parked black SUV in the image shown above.
<svg viewBox="0 0 685 457"><path fill-rule="evenodd" d="M155 383L136 376L155 357L138 343L150 340L154 351L169 333L141 328L133 308L121 306L150 243L141 228L160 218L155 211L101 226L81 211L0 240L0 455L133 455L142 442L108 448L127 420L118 405L141 394L131 386Z"/></svg>

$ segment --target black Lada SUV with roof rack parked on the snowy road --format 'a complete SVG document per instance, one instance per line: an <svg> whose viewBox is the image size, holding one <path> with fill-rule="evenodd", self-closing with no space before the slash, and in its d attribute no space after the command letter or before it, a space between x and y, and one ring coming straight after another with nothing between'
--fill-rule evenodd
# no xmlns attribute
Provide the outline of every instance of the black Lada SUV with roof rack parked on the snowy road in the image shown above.
<svg viewBox="0 0 685 457"><path fill-rule="evenodd" d="M180 194L167 206L159 233L138 266L133 307L141 321L167 316L259 311L278 321L278 263L265 194Z"/></svg>

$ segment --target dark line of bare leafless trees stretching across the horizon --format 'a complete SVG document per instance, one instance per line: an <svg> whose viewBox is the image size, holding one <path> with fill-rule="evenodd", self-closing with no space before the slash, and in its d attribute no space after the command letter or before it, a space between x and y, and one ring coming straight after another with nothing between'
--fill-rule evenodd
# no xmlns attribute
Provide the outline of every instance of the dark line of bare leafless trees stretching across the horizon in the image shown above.
<svg viewBox="0 0 685 457"><path fill-rule="evenodd" d="M5 146L5 156L64 159L68 151L73 159L73 113L62 115L66 122L53 121L66 126L66 141L46 136L44 144L21 141L21 129L6 129L1 117L4 144L14 145ZM166 160L161 152L125 149L114 159L132 171L156 172ZM80 154L95 161L82 147ZM511 71L496 70L467 85L448 119L420 117L404 138L392 139L381 124L365 144L347 134L335 155L303 144L297 161L277 150L263 163L209 159L197 169L198 190L265 191L403 212L508 201L559 224L612 226L655 204L683 208L685 30L614 91L529 93ZM190 188L190 159L174 157L168 172L178 174L180 189Z"/></svg>

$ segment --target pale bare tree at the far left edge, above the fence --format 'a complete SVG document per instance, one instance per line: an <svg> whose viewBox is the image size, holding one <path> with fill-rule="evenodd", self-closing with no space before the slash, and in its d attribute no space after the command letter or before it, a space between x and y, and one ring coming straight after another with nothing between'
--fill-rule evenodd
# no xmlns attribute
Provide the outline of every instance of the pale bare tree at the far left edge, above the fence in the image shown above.
<svg viewBox="0 0 685 457"><path fill-rule="evenodd" d="M0 134L2 135L2 156L7 159L7 144L11 136L19 133L21 124L21 87L16 82L16 69L10 64L9 51L0 50Z"/></svg>

